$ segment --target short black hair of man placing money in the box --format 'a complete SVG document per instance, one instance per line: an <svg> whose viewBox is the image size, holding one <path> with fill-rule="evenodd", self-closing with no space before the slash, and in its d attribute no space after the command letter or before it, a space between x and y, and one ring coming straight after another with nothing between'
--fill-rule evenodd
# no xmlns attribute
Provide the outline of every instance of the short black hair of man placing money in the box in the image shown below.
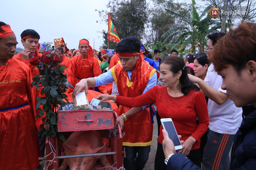
<svg viewBox="0 0 256 170"><path fill-rule="evenodd" d="M116 45L116 53L128 52L128 53L140 53L141 41L138 37L129 36L123 38Z"/></svg>

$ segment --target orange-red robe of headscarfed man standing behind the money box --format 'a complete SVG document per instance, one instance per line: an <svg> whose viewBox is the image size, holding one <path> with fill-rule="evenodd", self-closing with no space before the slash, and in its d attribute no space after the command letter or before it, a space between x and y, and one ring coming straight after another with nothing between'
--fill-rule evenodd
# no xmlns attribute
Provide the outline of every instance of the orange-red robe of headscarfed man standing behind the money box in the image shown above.
<svg viewBox="0 0 256 170"><path fill-rule="evenodd" d="M99 76L102 74L98 60L95 57L81 58L81 54L74 56L71 59L67 71L67 80L73 87L83 78ZM105 86L98 86L100 92L104 92ZM69 88L69 93L73 92L74 88Z"/></svg>

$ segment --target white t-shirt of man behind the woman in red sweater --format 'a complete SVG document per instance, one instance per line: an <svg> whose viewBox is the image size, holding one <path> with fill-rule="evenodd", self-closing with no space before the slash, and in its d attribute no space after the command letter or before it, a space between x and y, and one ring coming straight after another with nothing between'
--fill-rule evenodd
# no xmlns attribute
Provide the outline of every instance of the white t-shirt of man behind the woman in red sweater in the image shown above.
<svg viewBox="0 0 256 170"><path fill-rule="evenodd" d="M222 77L214 71L211 64L204 79L209 86L226 93L221 89ZM234 102L228 99L224 104L218 105L213 100L208 100L209 129L221 134L235 134L242 122L242 108L236 107Z"/></svg>

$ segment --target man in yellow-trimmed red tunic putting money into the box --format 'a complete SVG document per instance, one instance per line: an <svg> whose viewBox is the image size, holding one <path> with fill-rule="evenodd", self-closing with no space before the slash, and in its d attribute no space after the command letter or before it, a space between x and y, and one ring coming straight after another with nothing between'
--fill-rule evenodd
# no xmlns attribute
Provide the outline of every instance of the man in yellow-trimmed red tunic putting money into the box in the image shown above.
<svg viewBox="0 0 256 170"><path fill-rule="evenodd" d="M157 71L144 62L140 53L141 42L137 37L130 36L122 39L116 46L120 64L115 65L106 73L81 80L73 91L77 95L83 88L105 85L116 82L119 95L136 97L156 85ZM119 122L123 131L123 146L125 146L126 158L124 167L128 170L142 170L148 160L150 145L152 144L153 124L149 108L120 106ZM143 120L143 121L142 121Z"/></svg>

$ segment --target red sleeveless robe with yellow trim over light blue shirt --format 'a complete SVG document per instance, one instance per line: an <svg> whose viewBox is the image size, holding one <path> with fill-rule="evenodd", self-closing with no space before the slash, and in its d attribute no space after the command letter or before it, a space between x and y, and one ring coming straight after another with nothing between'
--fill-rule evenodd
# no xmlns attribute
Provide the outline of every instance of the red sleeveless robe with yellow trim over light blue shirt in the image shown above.
<svg viewBox="0 0 256 170"><path fill-rule="evenodd" d="M116 82L120 96L137 97L142 95L149 79L155 73L156 70L149 64L145 63L143 59L140 59L140 62L141 66L137 67L139 60L135 66L138 68L138 70L133 70L133 72L138 71L138 77L135 78L135 82L131 82L132 77L131 81L129 82L127 71L125 71L121 64L115 65L112 68L112 76ZM119 108L119 116L122 113L126 113L128 110L130 110L129 107L124 107L121 105ZM147 107L144 110L141 110L140 112L130 116L125 121L123 132L126 133L126 135L123 137L123 146L151 145L153 124L151 123L149 108Z"/></svg>

